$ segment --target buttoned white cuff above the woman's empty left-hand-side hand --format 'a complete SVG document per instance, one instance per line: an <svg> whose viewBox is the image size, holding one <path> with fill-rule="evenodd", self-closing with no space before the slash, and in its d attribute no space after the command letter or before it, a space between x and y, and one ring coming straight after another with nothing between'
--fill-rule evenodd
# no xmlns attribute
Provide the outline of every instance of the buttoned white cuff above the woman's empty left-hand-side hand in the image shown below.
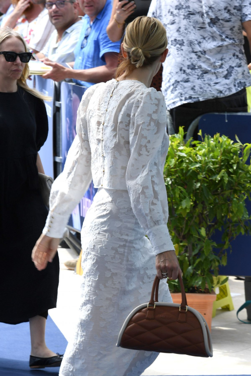
<svg viewBox="0 0 251 376"><path fill-rule="evenodd" d="M65 227L70 216L62 216L55 212L49 212L43 234L50 238L63 238Z"/></svg>

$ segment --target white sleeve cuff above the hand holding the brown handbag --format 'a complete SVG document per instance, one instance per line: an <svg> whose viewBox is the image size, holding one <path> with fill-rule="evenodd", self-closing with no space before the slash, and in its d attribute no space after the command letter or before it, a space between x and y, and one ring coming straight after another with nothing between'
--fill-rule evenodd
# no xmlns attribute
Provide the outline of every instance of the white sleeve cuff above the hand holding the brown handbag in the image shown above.
<svg viewBox="0 0 251 376"><path fill-rule="evenodd" d="M147 236L152 244L155 256L165 251L174 251L167 225L153 227L148 230Z"/></svg>

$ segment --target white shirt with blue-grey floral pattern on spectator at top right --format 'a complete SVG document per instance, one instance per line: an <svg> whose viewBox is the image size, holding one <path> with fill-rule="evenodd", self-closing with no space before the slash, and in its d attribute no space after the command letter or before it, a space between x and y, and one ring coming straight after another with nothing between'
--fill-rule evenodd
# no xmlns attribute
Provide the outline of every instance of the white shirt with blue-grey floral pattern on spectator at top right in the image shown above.
<svg viewBox="0 0 251 376"><path fill-rule="evenodd" d="M251 86L242 36L251 0L152 0L148 16L167 30L162 91L168 109Z"/></svg>

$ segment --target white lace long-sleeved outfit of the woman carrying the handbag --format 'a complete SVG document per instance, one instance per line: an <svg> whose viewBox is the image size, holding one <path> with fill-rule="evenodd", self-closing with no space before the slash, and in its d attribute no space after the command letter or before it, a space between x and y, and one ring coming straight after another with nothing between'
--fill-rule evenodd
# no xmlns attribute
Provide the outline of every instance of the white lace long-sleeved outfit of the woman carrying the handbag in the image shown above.
<svg viewBox="0 0 251 376"><path fill-rule="evenodd" d="M139 376L158 355L115 345L124 319L149 301L155 255L174 249L163 178L168 143L165 100L154 88L111 80L85 92L43 231L62 237L93 179L98 192L81 231L79 321L61 376ZM160 299L171 302L165 282Z"/></svg>

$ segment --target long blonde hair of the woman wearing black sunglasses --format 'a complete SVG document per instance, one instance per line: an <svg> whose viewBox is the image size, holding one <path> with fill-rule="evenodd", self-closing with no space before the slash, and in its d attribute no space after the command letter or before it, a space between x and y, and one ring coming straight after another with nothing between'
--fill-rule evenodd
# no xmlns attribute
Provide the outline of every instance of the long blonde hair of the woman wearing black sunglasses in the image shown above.
<svg viewBox="0 0 251 376"><path fill-rule="evenodd" d="M23 43L25 47L25 52L29 52L29 49L23 37L20 34L16 33L14 30L12 30L11 28L0 28L0 47L4 41L12 37L18 38ZM30 75L29 63L26 63L25 68L22 72L22 76L17 80L18 86L22 87L24 90L28 91L28 93L34 95L35 97L41 100L46 100L46 101L51 100L51 97L47 97L43 95L42 93L40 93L38 90L31 89L27 85L26 80L29 77L29 75Z"/></svg>

